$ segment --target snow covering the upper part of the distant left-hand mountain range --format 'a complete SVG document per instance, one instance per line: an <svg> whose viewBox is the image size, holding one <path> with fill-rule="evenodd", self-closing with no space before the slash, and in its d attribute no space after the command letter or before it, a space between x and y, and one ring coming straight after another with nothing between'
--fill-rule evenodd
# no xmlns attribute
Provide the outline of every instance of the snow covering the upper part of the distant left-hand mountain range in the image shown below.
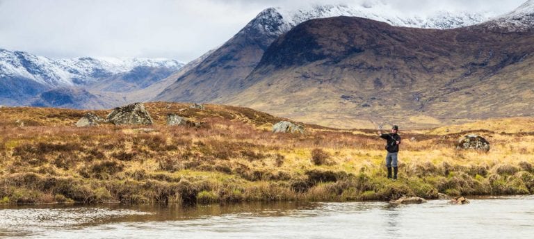
<svg viewBox="0 0 534 239"><path fill-rule="evenodd" d="M24 51L0 49L0 79L24 77L51 87L85 85L136 67L180 69L184 64L164 58L51 59Z"/></svg>

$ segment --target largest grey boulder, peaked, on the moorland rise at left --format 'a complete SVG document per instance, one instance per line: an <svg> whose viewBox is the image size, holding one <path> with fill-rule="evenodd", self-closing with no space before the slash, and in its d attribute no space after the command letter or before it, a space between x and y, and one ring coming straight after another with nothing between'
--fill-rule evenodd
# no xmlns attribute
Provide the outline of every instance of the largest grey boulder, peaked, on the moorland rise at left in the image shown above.
<svg viewBox="0 0 534 239"><path fill-rule="evenodd" d="M115 125L120 124L145 124L152 125L154 121L150 114L145 109L145 106L141 103L133 103L127 106L117 107L108 117L106 117L108 122L111 122Z"/></svg>

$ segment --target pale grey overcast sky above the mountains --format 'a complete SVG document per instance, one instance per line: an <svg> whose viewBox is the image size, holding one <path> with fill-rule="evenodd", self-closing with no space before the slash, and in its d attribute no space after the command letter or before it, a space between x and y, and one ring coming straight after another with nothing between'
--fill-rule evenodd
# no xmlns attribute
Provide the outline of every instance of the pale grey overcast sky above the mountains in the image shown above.
<svg viewBox="0 0 534 239"><path fill-rule="evenodd" d="M526 0L382 1L406 13L476 10L503 13ZM261 10L302 0L0 0L0 48L51 58L174 58L186 63L232 37Z"/></svg>

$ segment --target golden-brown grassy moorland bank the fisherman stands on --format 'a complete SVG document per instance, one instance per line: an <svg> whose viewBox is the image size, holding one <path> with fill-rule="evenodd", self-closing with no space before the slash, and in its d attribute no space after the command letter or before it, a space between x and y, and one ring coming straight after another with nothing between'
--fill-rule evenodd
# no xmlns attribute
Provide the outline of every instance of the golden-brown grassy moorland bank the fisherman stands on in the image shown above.
<svg viewBox="0 0 534 239"><path fill-rule="evenodd" d="M384 142L375 131L307 126L304 135L273 134L270 127L280 118L247 108L145 106L155 119L153 130L76 128L86 112L81 110L1 108L0 203L209 204L534 192L530 118L401 129L400 179L389 181ZM96 113L105 117L108 110ZM168 127L168 113L206 124ZM492 149L455 149L467 133L482 135Z"/></svg>

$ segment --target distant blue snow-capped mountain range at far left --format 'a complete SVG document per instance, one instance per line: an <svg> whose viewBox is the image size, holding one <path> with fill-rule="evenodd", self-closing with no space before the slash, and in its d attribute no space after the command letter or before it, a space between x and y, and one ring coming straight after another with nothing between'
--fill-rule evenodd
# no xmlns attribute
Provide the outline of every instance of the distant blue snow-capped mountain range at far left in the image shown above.
<svg viewBox="0 0 534 239"><path fill-rule="evenodd" d="M102 104L92 104L94 102L83 101L86 98L76 99L73 94L70 97L80 101L76 104L79 108L95 108L116 101L124 104L127 102L123 99L125 93L147 88L177 72L183 65L177 60L150 58L52 59L0 49L0 104L22 106L49 101L40 99L40 94L59 88L83 88L90 94L108 94L112 99L100 99ZM66 93L63 90L62 94ZM155 94L148 94L146 98Z"/></svg>

